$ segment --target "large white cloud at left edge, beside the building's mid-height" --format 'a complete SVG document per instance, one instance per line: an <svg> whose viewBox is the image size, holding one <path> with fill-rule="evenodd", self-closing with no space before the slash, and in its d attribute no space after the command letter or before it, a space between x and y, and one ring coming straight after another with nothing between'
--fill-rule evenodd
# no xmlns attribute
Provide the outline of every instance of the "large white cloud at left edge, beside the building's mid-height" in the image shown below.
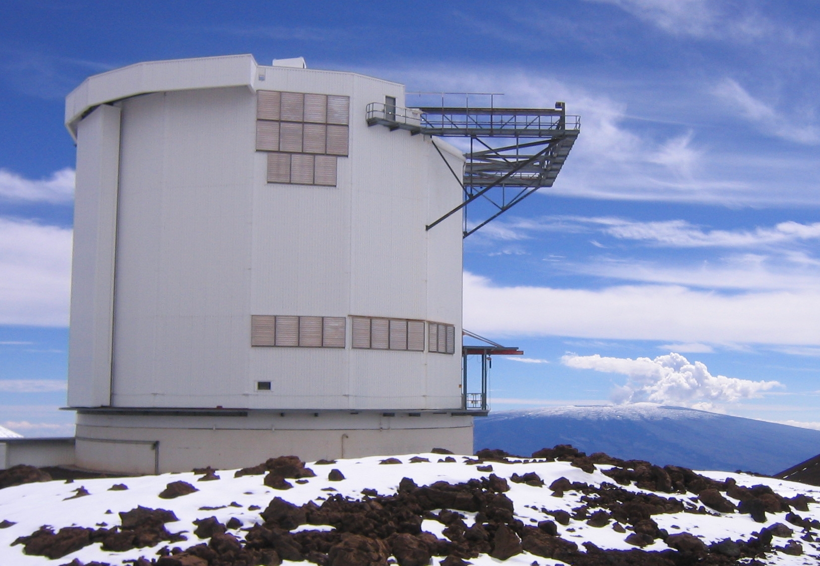
<svg viewBox="0 0 820 566"><path fill-rule="evenodd" d="M0 324L66 326L71 229L0 218Z"/></svg>

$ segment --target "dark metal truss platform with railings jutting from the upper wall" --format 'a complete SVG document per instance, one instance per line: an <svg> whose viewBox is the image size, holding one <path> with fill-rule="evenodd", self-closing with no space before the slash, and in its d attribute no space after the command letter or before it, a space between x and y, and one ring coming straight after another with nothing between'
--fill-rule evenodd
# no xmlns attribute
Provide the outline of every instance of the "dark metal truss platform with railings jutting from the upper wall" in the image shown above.
<svg viewBox="0 0 820 566"><path fill-rule="evenodd" d="M405 129L413 135L469 139L463 173L459 175L450 168L462 186L464 200L426 226L429 230L465 209L464 238L539 188L552 187L581 130L580 117L566 115L563 102L548 109L399 108L372 102L367 105L367 124ZM444 159L438 147L436 150ZM467 206L476 201L487 206L482 207L479 220L471 221L467 218Z"/></svg>

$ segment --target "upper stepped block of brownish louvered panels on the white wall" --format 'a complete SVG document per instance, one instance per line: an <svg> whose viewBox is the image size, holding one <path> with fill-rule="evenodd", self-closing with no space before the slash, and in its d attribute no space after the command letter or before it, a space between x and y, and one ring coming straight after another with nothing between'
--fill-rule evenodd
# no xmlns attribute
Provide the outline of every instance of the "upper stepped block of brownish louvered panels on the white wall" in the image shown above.
<svg viewBox="0 0 820 566"><path fill-rule="evenodd" d="M256 148L267 152L267 182L335 187L349 117L349 97L257 91Z"/></svg>

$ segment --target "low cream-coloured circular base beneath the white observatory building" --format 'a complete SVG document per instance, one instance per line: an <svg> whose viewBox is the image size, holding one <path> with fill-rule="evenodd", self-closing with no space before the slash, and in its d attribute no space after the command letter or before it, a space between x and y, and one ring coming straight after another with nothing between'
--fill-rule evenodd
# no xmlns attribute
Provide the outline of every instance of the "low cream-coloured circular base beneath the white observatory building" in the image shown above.
<svg viewBox="0 0 820 566"><path fill-rule="evenodd" d="M279 455L472 453L472 417L450 412L80 411L76 434L77 466L122 473L232 469Z"/></svg>

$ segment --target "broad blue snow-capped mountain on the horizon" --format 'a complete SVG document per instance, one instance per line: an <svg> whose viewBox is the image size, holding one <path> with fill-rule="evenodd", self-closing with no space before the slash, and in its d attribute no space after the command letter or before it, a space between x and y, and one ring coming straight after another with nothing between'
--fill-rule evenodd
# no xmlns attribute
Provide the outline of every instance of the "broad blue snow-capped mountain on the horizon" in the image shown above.
<svg viewBox="0 0 820 566"><path fill-rule="evenodd" d="M820 431L651 403L508 410L475 419L475 448L530 455L572 444L692 469L773 474L820 454Z"/></svg>

